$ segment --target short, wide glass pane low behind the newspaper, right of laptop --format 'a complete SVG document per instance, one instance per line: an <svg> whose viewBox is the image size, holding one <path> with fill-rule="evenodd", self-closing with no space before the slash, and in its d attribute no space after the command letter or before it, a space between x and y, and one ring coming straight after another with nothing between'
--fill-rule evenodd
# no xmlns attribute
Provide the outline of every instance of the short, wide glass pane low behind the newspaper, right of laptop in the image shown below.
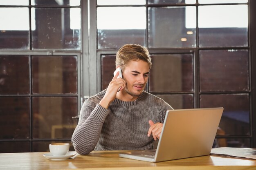
<svg viewBox="0 0 256 170"><path fill-rule="evenodd" d="M213 144L213 148L250 148L250 146L250 139L248 138L216 138Z"/></svg>

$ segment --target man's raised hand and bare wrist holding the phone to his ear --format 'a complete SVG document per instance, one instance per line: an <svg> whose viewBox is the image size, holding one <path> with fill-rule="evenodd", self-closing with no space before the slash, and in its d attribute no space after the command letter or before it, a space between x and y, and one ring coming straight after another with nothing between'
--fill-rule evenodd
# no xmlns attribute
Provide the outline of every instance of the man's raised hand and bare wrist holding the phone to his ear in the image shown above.
<svg viewBox="0 0 256 170"><path fill-rule="evenodd" d="M119 88L120 88L120 91L121 91L126 86L126 82L124 81L124 79L117 78L118 75L119 75L119 71L117 72L117 74L113 77L113 79L109 83L104 97L99 102L99 104L104 108L108 108L110 103L113 100L115 100L116 95L117 95L117 91L119 90Z"/></svg>

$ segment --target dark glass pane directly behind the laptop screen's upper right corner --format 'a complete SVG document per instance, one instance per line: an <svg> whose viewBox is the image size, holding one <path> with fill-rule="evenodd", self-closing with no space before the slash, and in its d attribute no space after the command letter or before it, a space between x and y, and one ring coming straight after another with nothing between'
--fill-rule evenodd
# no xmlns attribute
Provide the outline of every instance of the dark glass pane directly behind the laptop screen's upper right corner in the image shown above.
<svg viewBox="0 0 256 170"><path fill-rule="evenodd" d="M200 107L223 107L219 127L225 135L250 135L248 94L200 95Z"/></svg>

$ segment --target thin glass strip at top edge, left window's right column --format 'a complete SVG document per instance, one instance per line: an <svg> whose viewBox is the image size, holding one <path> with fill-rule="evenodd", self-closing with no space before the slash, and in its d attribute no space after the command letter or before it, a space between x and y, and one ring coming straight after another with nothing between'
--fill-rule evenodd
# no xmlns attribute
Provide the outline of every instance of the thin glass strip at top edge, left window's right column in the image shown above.
<svg viewBox="0 0 256 170"><path fill-rule="evenodd" d="M80 5L80 0L31 0L31 5L76 6Z"/></svg>

